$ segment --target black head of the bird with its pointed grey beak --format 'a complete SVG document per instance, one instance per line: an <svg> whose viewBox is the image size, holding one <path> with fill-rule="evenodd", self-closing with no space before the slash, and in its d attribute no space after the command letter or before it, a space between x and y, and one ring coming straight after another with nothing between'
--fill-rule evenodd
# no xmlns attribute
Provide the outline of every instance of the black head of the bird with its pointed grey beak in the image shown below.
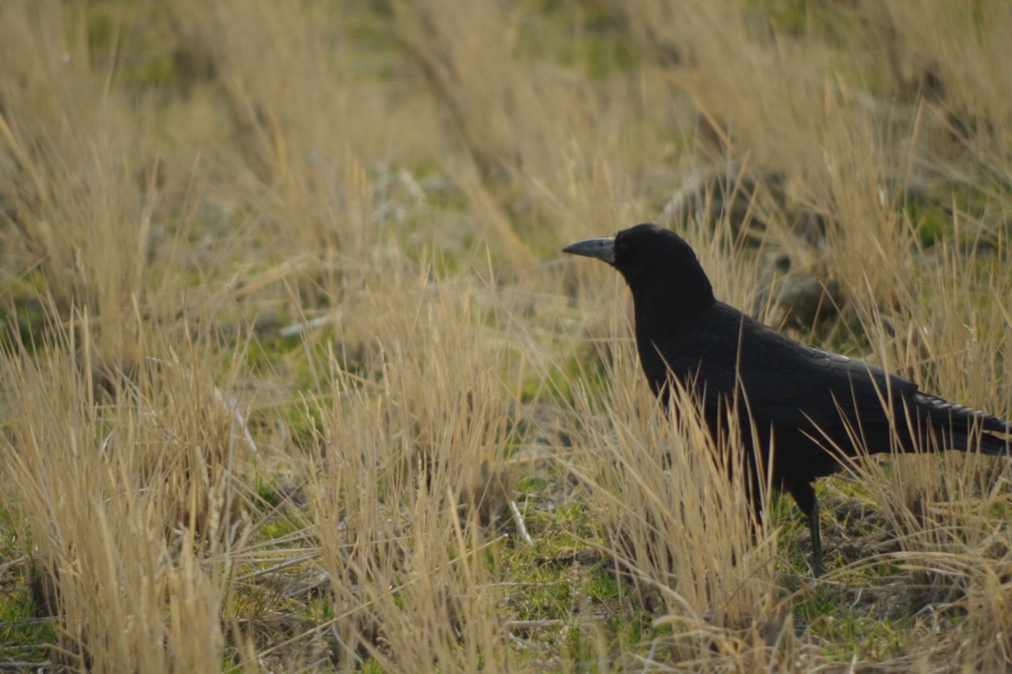
<svg viewBox="0 0 1012 674"><path fill-rule="evenodd" d="M675 232L656 224L622 229L614 238L588 238L563 253L603 260L625 278L636 300L663 295L669 306L705 306L713 289L692 248Z"/></svg>

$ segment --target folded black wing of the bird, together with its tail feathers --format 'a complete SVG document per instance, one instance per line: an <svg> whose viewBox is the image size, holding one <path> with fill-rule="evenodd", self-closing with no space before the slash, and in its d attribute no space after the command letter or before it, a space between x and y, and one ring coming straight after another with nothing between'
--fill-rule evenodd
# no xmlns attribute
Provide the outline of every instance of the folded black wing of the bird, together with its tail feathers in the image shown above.
<svg viewBox="0 0 1012 674"><path fill-rule="evenodd" d="M1004 419L922 393L873 365L798 344L725 304L655 346L707 409L737 399L756 420L816 438L825 434L840 445L849 444L847 426L876 447L888 447L894 430L911 444L907 419L916 421L918 436L929 427L944 430L951 449L974 445L979 430L1012 434ZM1007 441L988 436L980 447L988 454L1009 451Z"/></svg>

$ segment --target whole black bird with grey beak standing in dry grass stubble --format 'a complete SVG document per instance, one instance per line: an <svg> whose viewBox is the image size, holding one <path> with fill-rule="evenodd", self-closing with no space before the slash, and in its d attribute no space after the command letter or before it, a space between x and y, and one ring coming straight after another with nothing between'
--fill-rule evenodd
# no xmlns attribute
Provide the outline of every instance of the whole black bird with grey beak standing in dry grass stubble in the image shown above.
<svg viewBox="0 0 1012 674"><path fill-rule="evenodd" d="M763 467L772 439L772 484L789 492L808 516L816 575L823 551L812 482L834 473L840 454L857 456L855 438L870 454L894 447L1009 454L1009 441L984 432L1012 434L1008 421L922 393L872 365L798 344L718 301L692 249L669 229L638 224L563 252L603 260L625 278L640 362L663 403L674 378L697 393L715 437L727 409L740 400L741 438ZM755 464L750 473L758 513Z"/></svg>

